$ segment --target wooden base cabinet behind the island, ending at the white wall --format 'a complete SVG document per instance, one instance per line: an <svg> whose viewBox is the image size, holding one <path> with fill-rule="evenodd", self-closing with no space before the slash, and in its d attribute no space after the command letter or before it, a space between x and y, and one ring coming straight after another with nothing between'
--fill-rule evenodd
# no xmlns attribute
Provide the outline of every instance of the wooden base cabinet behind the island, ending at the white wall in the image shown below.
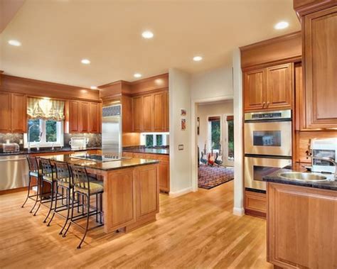
<svg viewBox="0 0 337 269"><path fill-rule="evenodd" d="M123 152L123 157L159 160L159 190L161 192L170 192L169 155Z"/></svg>

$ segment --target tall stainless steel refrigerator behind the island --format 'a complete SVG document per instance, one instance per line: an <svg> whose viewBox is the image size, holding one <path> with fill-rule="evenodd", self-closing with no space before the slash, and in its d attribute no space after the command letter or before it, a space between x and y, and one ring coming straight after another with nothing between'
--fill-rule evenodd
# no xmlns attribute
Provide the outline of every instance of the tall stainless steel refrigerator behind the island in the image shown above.
<svg viewBox="0 0 337 269"><path fill-rule="evenodd" d="M122 105L102 108L102 154L122 156Z"/></svg>

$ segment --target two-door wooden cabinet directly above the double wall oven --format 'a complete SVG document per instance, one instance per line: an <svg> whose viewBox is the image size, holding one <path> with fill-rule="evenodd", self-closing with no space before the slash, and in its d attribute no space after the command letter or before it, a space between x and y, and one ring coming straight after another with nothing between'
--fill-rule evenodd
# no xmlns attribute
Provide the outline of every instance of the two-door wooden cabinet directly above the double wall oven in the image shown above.
<svg viewBox="0 0 337 269"><path fill-rule="evenodd" d="M291 109L293 63L244 73L245 111Z"/></svg>

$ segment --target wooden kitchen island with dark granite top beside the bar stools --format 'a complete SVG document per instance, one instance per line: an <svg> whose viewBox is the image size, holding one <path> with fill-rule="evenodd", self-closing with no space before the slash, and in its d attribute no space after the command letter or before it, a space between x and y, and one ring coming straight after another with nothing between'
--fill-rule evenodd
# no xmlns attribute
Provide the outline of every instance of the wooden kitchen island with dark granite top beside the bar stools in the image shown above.
<svg viewBox="0 0 337 269"><path fill-rule="evenodd" d="M75 158L74 158L75 157ZM82 165L104 182L104 231L130 231L156 220L159 212L158 160L124 158L109 162L81 160L75 155L46 155L41 158Z"/></svg>

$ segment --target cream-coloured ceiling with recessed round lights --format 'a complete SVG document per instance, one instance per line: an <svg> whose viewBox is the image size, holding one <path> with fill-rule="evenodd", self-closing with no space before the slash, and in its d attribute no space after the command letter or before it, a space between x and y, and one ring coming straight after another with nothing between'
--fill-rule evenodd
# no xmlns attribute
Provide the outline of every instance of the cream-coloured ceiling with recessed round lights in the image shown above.
<svg viewBox="0 0 337 269"><path fill-rule="evenodd" d="M82 87L230 65L233 48L299 31L292 0L26 0L1 33L6 74ZM289 28L274 30L278 21ZM141 32L151 30L145 40ZM7 42L19 40L21 47ZM194 55L203 61L193 62ZM90 65L82 65L82 58Z"/></svg>

